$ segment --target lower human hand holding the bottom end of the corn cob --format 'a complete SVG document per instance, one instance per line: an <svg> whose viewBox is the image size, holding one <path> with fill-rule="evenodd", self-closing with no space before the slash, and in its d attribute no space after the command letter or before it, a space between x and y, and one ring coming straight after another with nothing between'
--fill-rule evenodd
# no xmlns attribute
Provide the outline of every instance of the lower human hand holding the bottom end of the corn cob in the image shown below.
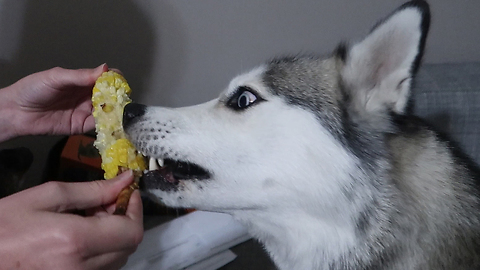
<svg viewBox="0 0 480 270"><path fill-rule="evenodd" d="M0 268L119 269L143 237L138 190L125 216L111 214L132 181L129 171L111 180L49 182L0 199ZM90 214L71 214L76 209Z"/></svg>

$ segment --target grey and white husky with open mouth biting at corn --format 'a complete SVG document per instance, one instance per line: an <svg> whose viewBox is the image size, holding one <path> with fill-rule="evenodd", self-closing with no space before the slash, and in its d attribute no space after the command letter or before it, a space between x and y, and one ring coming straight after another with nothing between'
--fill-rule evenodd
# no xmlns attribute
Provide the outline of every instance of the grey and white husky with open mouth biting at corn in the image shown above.
<svg viewBox="0 0 480 270"><path fill-rule="evenodd" d="M411 1L328 57L278 58L186 108L127 105L143 188L229 213L279 269L477 269L478 170L408 113L429 28Z"/></svg>

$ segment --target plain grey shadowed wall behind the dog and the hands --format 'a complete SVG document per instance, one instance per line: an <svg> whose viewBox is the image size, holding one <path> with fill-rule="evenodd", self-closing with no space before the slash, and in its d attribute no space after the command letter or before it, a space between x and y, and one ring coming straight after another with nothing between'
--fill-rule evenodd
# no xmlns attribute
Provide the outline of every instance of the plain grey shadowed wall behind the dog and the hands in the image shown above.
<svg viewBox="0 0 480 270"><path fill-rule="evenodd" d="M120 68L134 99L185 106L276 55L329 53L401 0L0 0L0 87L53 66ZM426 62L480 61L480 1L431 0ZM57 138L35 148L41 170ZM35 174L36 175L36 174Z"/></svg>

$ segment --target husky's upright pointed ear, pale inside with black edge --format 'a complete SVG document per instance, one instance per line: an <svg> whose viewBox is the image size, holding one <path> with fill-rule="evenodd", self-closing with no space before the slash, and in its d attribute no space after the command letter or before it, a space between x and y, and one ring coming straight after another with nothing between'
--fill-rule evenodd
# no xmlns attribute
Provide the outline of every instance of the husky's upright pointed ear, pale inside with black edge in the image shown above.
<svg viewBox="0 0 480 270"><path fill-rule="evenodd" d="M430 24L425 1L411 1L379 22L350 49L337 50L342 83L358 116L404 113ZM366 115L365 115L366 114Z"/></svg>

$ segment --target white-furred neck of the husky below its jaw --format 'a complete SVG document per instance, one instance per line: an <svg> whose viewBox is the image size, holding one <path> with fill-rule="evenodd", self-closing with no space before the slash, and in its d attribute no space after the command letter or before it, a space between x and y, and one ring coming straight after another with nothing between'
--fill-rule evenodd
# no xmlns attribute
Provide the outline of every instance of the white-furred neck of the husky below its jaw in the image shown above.
<svg viewBox="0 0 480 270"><path fill-rule="evenodd" d="M365 180L366 175L361 172L350 175L359 177L350 183L375 182L371 178ZM375 258L383 258L385 252L385 247L378 246L377 241L392 240L382 229L392 213L378 205L393 202L384 196L387 192L384 187L363 187L376 190L369 193L355 192L361 189L355 184L350 188L354 193L337 197L334 204L239 210L230 214L247 226L281 270L373 269L378 263Z"/></svg>

